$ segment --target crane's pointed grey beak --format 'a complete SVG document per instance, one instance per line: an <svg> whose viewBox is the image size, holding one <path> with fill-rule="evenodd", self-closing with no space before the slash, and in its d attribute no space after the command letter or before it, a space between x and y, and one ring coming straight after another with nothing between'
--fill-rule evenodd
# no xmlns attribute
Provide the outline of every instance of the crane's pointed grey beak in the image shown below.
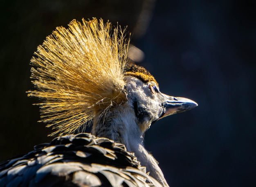
<svg viewBox="0 0 256 187"><path fill-rule="evenodd" d="M191 99L187 99L184 97L168 96L162 93L161 95L164 97L164 101L162 103L164 110L162 115L159 117L159 119L162 119L163 117L166 117L172 114L185 112L187 110L190 110L198 106L198 103L196 103L195 101L192 101Z"/></svg>

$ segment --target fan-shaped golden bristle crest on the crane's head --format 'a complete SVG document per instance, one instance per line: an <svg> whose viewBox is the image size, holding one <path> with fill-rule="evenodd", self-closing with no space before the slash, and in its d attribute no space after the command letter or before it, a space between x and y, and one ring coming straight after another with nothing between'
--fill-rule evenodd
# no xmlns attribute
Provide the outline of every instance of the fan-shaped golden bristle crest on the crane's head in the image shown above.
<svg viewBox="0 0 256 187"><path fill-rule="evenodd" d="M129 40L103 20L57 27L32 57L29 97L40 99L41 121L62 135L86 126L99 112L127 101L124 67Z"/></svg>

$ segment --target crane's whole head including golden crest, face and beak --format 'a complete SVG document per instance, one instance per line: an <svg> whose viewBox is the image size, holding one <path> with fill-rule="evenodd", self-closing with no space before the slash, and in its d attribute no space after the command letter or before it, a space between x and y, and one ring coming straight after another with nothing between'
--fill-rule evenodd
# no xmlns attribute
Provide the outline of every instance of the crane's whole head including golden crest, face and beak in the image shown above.
<svg viewBox="0 0 256 187"><path fill-rule="evenodd" d="M128 45L119 27L93 19L57 27L38 46L31 59L36 90L28 95L41 99L41 118L56 130L52 135L74 133L95 117L102 120L98 131L106 129L106 117L124 112L123 106L143 134L158 119L197 106L162 94L145 68L128 65Z"/></svg>

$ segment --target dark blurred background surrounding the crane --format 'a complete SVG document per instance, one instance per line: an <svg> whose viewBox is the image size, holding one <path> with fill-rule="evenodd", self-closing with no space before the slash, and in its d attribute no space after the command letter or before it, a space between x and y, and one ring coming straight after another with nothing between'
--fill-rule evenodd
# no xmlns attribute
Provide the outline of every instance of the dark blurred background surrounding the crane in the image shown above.
<svg viewBox="0 0 256 187"><path fill-rule="evenodd" d="M1 3L0 161L50 141L29 60L56 26L126 26L162 92L199 106L151 126L145 144L173 187L256 186L256 1L13 0Z"/></svg>

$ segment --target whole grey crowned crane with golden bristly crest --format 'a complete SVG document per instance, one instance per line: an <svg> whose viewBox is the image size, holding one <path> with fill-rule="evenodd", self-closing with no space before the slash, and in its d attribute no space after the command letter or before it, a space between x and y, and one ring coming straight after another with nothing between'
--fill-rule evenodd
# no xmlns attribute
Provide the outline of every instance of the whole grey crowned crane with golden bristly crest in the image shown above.
<svg viewBox="0 0 256 187"><path fill-rule="evenodd" d="M128 63L129 44L126 28L97 18L46 37L31 58L35 89L27 93L56 137L0 163L0 187L168 187L144 134L198 104L160 92L148 70Z"/></svg>

